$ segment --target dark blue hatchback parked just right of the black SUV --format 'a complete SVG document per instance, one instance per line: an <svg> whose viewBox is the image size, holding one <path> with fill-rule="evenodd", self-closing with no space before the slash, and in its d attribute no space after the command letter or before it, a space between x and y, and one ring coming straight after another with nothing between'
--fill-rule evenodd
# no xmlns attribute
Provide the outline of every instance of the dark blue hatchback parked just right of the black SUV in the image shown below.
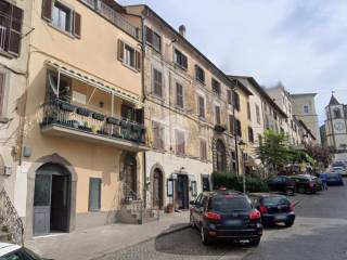
<svg viewBox="0 0 347 260"><path fill-rule="evenodd" d="M250 194L249 198L261 213L262 224L284 223L292 226L295 220L294 205L283 195L271 193Z"/></svg>

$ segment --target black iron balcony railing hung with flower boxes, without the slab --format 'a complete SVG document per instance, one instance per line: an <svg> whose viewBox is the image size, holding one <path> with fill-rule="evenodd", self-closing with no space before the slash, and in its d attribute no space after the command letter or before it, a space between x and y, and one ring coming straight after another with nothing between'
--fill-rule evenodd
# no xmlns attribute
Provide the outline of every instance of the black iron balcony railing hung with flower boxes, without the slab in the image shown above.
<svg viewBox="0 0 347 260"><path fill-rule="evenodd" d="M145 128L143 125L107 117L63 101L43 104L41 128L51 125L59 125L110 139L123 139L145 144Z"/></svg>

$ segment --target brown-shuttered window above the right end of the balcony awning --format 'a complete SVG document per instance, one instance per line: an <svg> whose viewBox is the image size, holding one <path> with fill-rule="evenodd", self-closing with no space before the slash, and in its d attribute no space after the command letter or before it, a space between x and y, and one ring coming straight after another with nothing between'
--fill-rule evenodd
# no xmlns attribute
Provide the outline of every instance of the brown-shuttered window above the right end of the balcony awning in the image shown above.
<svg viewBox="0 0 347 260"><path fill-rule="evenodd" d="M134 50L123 40L118 39L118 61L125 64L127 67L141 72L141 53Z"/></svg>

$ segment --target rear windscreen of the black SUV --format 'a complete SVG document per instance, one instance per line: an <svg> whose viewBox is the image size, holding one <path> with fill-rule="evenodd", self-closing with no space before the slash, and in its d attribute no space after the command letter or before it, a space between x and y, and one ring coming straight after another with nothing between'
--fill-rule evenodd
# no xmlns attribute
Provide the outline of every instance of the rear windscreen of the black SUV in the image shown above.
<svg viewBox="0 0 347 260"><path fill-rule="evenodd" d="M250 203L245 197L214 197L210 209L218 213L229 213L232 211L249 211Z"/></svg>

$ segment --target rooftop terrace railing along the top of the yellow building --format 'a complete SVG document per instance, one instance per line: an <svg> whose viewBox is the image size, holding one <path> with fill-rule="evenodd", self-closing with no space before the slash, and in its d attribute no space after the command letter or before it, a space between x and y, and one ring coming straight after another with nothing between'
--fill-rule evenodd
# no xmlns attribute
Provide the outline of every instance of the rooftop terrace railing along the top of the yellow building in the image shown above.
<svg viewBox="0 0 347 260"><path fill-rule="evenodd" d="M128 21L126 21L119 13L113 10L111 6L105 4L100 0L80 0L90 8L92 8L95 12L104 16L114 25L118 26L129 35L133 36L134 38L141 40L141 30L140 28L134 27Z"/></svg>

